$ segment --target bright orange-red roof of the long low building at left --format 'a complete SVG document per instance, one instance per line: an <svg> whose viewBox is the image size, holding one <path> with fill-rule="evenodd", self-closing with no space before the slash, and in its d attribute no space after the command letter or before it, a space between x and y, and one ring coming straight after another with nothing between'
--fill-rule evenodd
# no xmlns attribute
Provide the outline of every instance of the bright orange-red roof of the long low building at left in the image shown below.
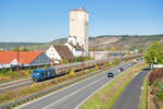
<svg viewBox="0 0 163 109"><path fill-rule="evenodd" d="M18 63L32 63L40 53L40 51L22 52L20 51ZM14 59L17 60L16 51L0 51L0 63L11 63Z"/></svg>

